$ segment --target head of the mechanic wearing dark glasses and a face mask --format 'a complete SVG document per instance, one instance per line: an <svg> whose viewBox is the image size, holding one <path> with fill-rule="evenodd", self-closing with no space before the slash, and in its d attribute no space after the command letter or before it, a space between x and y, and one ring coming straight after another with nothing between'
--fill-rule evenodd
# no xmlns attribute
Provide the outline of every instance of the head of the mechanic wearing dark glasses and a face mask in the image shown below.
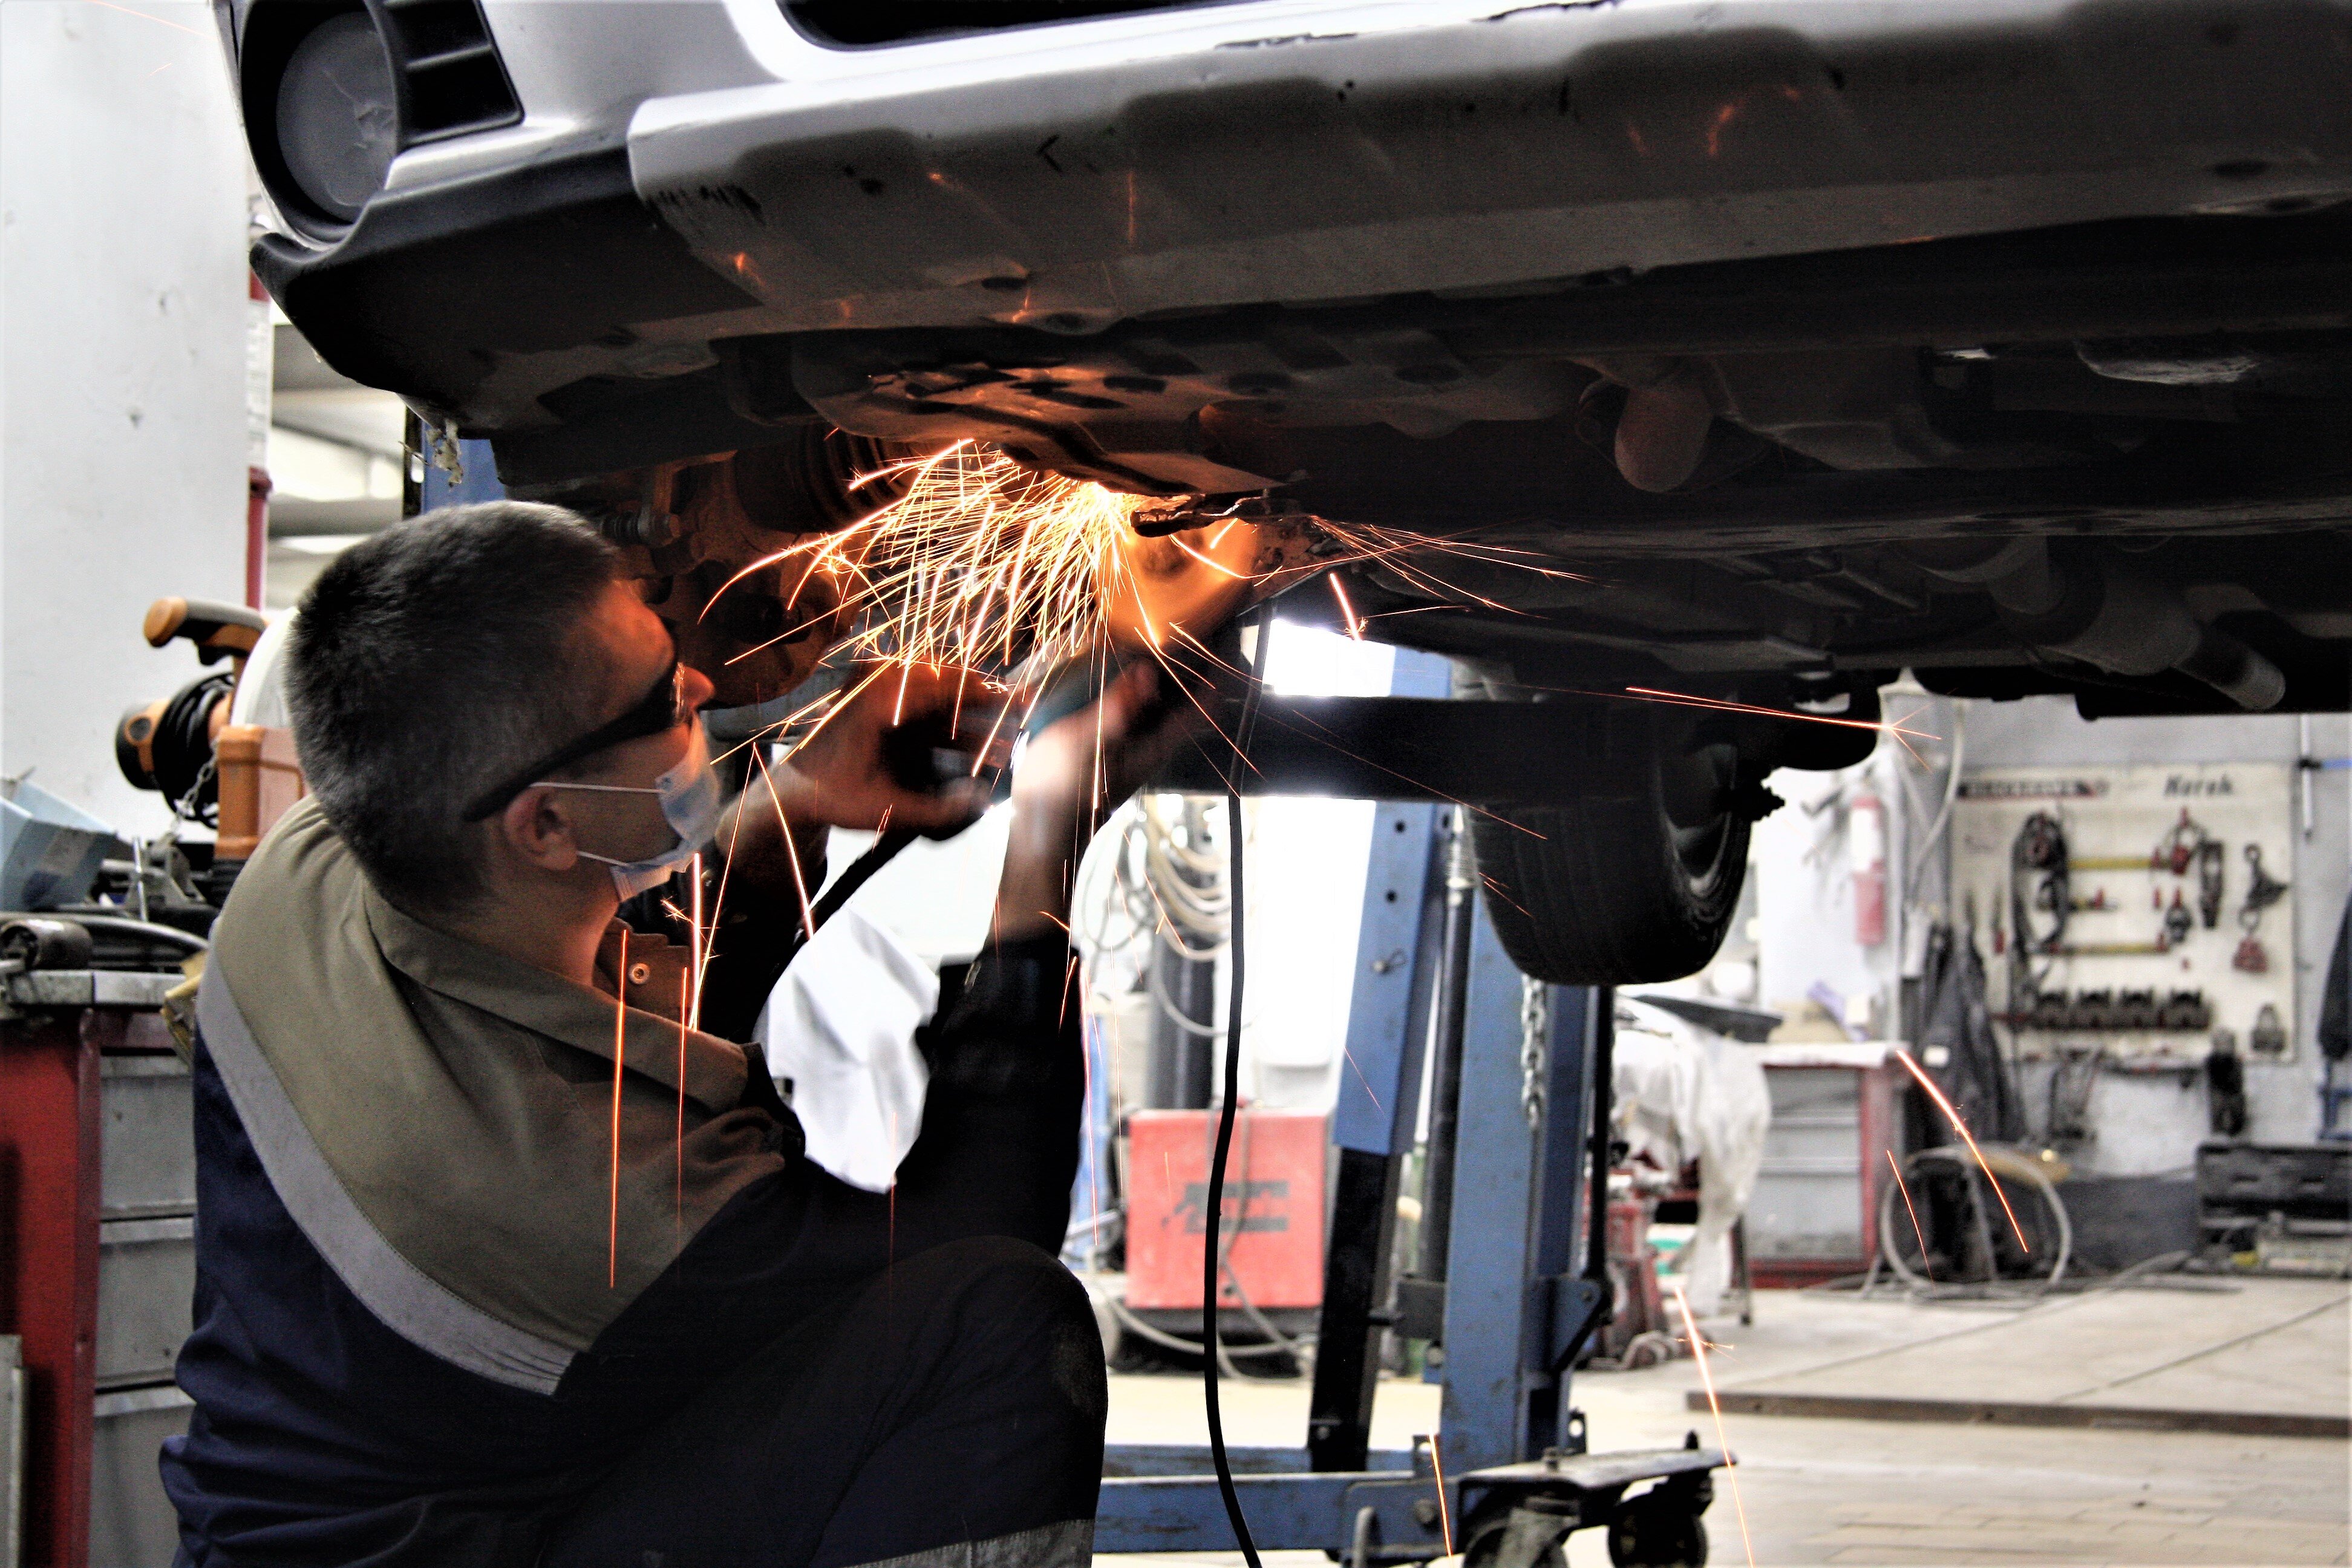
<svg viewBox="0 0 2352 1568"><path fill-rule="evenodd" d="M560 508L492 501L397 524L329 564L287 644L287 705L320 809L395 905L456 917L515 877L550 893L576 882L593 903L609 882L581 842L614 860L659 853L675 842L659 804L508 785L541 769L649 785L684 755L682 722L621 724L635 733L572 752L644 708L673 658L609 543ZM684 672L680 708L708 691Z"/></svg>

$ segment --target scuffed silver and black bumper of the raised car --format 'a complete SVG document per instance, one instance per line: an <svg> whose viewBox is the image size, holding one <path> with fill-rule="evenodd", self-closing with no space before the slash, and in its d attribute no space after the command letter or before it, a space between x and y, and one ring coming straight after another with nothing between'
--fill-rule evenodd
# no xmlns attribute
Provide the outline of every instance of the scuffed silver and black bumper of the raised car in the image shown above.
<svg viewBox="0 0 2352 1568"><path fill-rule="evenodd" d="M600 9L492 0L534 125ZM807 416L790 386L729 402L727 339L1094 339L2352 193L2345 0L1268 0L863 52L736 0L743 38L753 12L769 35L701 78L729 85L510 167L395 167L339 244L256 270L336 369L529 484Z"/></svg>

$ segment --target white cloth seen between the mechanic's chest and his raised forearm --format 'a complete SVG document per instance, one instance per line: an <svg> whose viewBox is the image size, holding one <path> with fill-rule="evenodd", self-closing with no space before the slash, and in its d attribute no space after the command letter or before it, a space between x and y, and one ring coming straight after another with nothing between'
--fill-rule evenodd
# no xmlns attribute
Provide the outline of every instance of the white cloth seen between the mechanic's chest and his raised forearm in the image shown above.
<svg viewBox="0 0 2352 1568"><path fill-rule="evenodd" d="M842 907L776 980L760 1013L767 1070L793 1081L809 1159L866 1192L889 1192L922 1131L931 1070L915 1030L938 1011L938 973Z"/></svg>

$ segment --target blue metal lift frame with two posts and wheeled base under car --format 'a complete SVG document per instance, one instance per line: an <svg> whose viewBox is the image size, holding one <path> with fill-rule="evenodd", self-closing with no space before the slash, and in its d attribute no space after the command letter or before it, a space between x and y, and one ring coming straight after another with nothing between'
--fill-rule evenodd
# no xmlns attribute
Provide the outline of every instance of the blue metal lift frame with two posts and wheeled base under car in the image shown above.
<svg viewBox="0 0 2352 1568"><path fill-rule="evenodd" d="M1399 654L1392 693L1446 696L1444 661ZM1529 1060L1526 985L1484 907L1470 945L1444 1356L1435 1368L1439 1453L1362 1446L1374 1349L1388 1321L1397 1166L1414 1140L1428 1056L1444 882L1437 811L1383 804L1374 818L1331 1114L1334 1265L1308 1446L1230 1455L1251 1533L1268 1552L1345 1556L1364 1542L1364 1561L1425 1561L1465 1544L1449 1540L1449 1528L1465 1526L1465 1505L1482 1509L1479 1519L1501 1519L1515 1497L1548 1488L1557 1495L1559 1486L1595 1500L1599 1512L1576 1516L1585 1526L1602 1523L1625 1486L1646 1479L1677 1476L1682 1495L1703 1507L1705 1472L1722 1462L1698 1448L1564 1458L1583 1453L1583 1418L1569 1408L1569 1361L1602 1309L1602 1288L1578 1262L1590 1206L1595 1065L1606 1056L1602 1009L1611 1004L1599 990L1541 987L1548 1027ZM1350 1227L1364 1232L1345 1239L1357 1253L1352 1265L1341 1255L1341 1232ZM1334 1321L1345 1331L1334 1331ZM1362 1352L1352 1342L1357 1328L1367 1340ZM1355 1462L1334 1467L1334 1453ZM1112 1448L1103 1469L1096 1552L1232 1547L1207 1448ZM1439 1500L1444 1507L1432 1507ZM1482 1507L1482 1500L1494 1502Z"/></svg>

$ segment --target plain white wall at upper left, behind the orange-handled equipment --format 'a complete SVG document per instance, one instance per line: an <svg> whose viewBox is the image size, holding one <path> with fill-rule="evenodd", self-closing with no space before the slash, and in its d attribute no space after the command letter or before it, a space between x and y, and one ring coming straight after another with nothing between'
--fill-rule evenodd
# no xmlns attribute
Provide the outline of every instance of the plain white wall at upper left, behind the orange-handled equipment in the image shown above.
<svg viewBox="0 0 2352 1568"><path fill-rule="evenodd" d="M122 832L139 618L245 597L245 141L202 0L0 2L0 771Z"/></svg>

